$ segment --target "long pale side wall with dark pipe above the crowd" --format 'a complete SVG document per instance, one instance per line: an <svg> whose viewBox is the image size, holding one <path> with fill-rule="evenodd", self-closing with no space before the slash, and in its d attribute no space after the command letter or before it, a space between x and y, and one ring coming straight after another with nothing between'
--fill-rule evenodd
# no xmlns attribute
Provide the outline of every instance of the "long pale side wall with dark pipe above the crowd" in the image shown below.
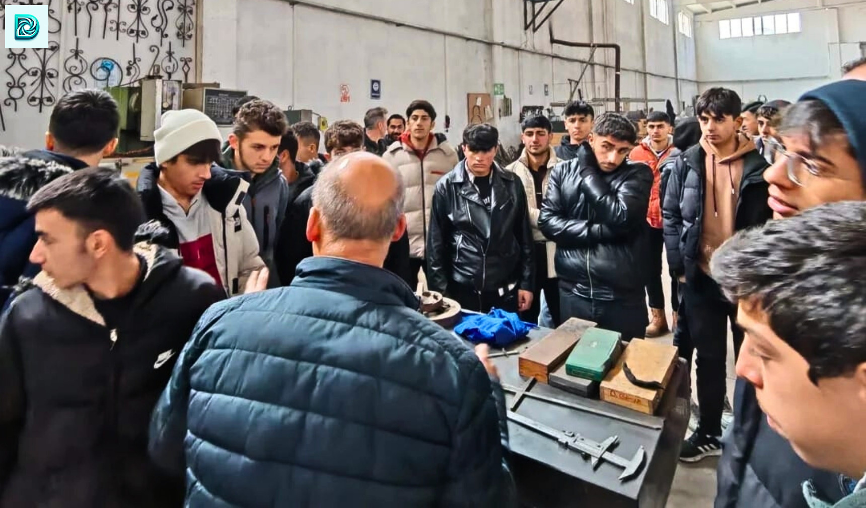
<svg viewBox="0 0 866 508"><path fill-rule="evenodd" d="M675 11L665 25L643 4L568 0L549 23L559 39L620 44L623 97L676 100L679 92L689 102L697 89L695 41L676 33ZM449 115L456 142L468 124L466 94L504 83L512 114L500 117L494 99L494 123L504 144L516 145L520 108L567 100L569 78L583 74L585 98L614 95L611 50L552 47L546 26L523 29L518 0L439 0L411 9L390 0L220 0L202 9L200 80L313 109L331 122L361 119L372 106L403 113L424 98L440 115L437 130ZM369 98L371 79L382 80L381 100ZM339 102L341 84L350 87L350 102Z"/></svg>

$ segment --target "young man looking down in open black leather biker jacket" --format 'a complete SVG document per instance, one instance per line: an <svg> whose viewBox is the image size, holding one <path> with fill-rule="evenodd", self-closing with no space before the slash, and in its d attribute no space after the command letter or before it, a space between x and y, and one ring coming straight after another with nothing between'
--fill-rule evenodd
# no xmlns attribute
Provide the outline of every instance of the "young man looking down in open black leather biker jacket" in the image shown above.
<svg viewBox="0 0 866 508"><path fill-rule="evenodd" d="M494 162L499 132L469 125L466 158L436 183L427 235L430 289L464 309L524 312L533 303L534 244L526 190Z"/></svg>

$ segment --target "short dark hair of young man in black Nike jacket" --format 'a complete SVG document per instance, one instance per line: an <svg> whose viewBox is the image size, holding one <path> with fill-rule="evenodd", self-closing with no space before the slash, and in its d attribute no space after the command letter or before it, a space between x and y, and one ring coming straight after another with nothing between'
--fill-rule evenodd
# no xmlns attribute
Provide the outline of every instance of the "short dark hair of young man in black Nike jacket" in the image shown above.
<svg viewBox="0 0 866 508"><path fill-rule="evenodd" d="M117 170L98 166L48 183L30 198L27 209L32 214L55 209L77 222L83 236L105 229L125 252L132 250L135 230L145 221L144 206L129 180Z"/></svg>

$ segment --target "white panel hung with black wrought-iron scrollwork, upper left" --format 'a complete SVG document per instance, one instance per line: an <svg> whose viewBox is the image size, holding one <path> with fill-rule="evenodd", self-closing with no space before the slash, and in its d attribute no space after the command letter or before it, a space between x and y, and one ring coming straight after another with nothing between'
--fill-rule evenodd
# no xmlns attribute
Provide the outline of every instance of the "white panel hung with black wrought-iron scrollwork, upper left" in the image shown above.
<svg viewBox="0 0 866 508"><path fill-rule="evenodd" d="M195 0L0 0L0 31L8 5L48 5L51 36L0 58L0 145L33 145L64 93L196 79Z"/></svg>

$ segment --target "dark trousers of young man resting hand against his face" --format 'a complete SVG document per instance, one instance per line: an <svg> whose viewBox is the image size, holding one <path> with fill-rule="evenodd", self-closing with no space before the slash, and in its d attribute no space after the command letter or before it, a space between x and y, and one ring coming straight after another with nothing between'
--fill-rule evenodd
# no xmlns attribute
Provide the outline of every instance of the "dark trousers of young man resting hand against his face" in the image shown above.
<svg viewBox="0 0 866 508"><path fill-rule="evenodd" d="M643 337L650 324L643 293L625 299L588 299L574 294L571 286L561 281L559 312L563 321L568 318L592 321L598 324L598 328L618 331L623 335L623 340Z"/></svg>

